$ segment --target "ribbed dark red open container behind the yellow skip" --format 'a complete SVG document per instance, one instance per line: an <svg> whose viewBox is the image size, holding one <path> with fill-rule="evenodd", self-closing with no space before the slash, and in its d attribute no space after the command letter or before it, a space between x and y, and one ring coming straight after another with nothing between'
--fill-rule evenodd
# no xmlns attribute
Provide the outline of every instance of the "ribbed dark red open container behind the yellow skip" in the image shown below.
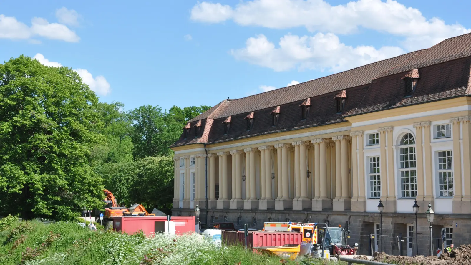
<svg viewBox="0 0 471 265"><path fill-rule="evenodd" d="M247 247L279 247L286 244L300 245L301 241L301 232L249 231ZM244 231L222 231L222 242L227 246L244 246Z"/></svg>

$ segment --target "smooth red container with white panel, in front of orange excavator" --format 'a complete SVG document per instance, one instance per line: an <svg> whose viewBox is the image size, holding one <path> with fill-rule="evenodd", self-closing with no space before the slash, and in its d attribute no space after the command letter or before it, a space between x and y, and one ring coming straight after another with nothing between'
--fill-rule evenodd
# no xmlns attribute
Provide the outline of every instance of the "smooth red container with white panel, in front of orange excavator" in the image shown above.
<svg viewBox="0 0 471 265"><path fill-rule="evenodd" d="M139 230L146 235L154 232L169 232L167 216L116 216L113 217L113 228L133 234ZM172 216L170 221L170 234L183 234L195 232L195 216Z"/></svg>

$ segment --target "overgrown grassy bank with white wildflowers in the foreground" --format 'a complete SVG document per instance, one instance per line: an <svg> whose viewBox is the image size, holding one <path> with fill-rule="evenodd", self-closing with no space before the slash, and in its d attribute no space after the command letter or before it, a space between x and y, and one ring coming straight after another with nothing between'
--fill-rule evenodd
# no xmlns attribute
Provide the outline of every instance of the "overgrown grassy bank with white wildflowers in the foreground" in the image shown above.
<svg viewBox="0 0 471 265"><path fill-rule="evenodd" d="M324 264L283 260L246 251L242 246L216 247L197 234L169 238L90 231L77 223L15 222L0 231L1 265L295 265Z"/></svg>

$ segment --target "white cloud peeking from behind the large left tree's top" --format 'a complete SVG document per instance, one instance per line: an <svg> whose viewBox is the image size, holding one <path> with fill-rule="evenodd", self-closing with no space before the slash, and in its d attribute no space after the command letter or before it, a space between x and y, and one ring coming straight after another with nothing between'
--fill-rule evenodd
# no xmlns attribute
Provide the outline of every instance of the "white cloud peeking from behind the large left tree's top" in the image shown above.
<svg viewBox="0 0 471 265"><path fill-rule="evenodd" d="M47 58L44 58L44 55L41 53L37 53L33 58L37 59L42 65L45 66L53 66L53 67L61 67L62 64L58 62L49 61ZM99 96L106 96L111 93L111 86L106 78L103 75L97 75L93 77L92 74L89 73L86 69L73 69L73 71L77 72L82 78L83 83L89 85L92 91L95 91Z"/></svg>

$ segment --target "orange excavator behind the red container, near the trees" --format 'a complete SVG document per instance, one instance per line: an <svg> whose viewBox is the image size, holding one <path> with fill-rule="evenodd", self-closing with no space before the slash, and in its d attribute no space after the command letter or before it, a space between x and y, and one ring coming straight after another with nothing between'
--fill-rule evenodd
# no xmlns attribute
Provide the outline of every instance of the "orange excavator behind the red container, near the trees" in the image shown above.
<svg viewBox="0 0 471 265"><path fill-rule="evenodd" d="M112 221L114 216L155 216L154 214L149 214L146 211L146 208L141 204L133 204L131 207L118 207L116 204L116 199L114 198L113 193L109 190L103 190L105 193L105 214L103 216L104 221Z"/></svg>

